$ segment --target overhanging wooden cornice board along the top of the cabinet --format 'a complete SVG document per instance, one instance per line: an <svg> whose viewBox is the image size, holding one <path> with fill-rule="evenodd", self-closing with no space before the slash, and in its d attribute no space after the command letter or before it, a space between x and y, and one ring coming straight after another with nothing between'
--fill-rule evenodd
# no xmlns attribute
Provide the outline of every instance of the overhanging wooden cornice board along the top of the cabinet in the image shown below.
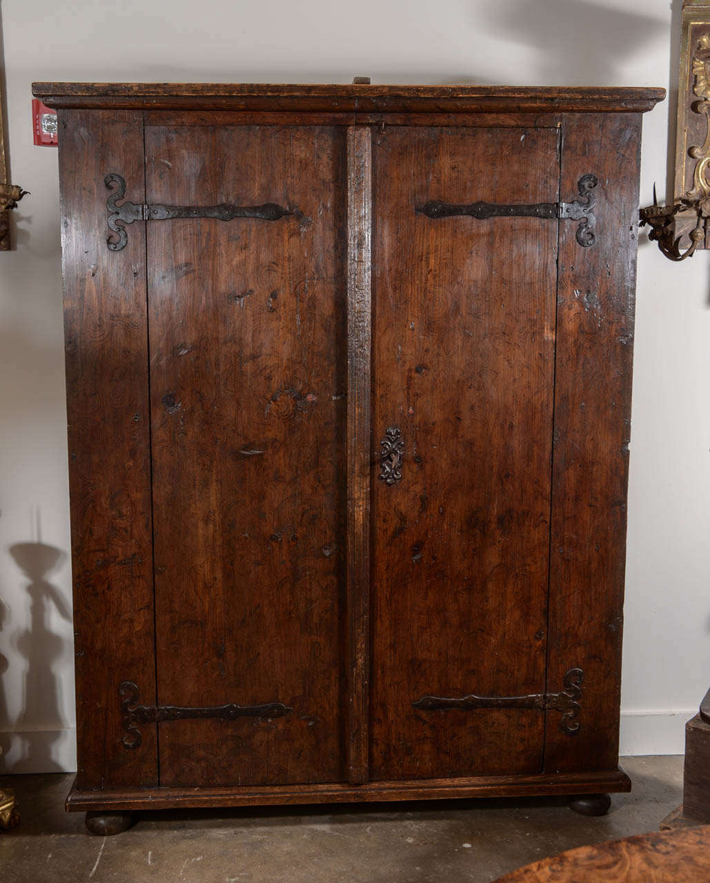
<svg viewBox="0 0 710 883"><path fill-rule="evenodd" d="M666 95L666 90L661 88L371 86L359 83L33 83L32 92L54 108L350 113L643 113Z"/></svg>

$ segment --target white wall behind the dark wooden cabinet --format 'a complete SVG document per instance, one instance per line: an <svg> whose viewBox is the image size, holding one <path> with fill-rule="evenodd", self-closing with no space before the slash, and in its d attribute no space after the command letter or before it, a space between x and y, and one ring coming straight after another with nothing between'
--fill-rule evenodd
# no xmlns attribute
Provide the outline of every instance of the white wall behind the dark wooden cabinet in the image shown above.
<svg viewBox="0 0 710 883"><path fill-rule="evenodd" d="M678 0L674 2L677 18ZM12 180L0 253L0 744L74 768L57 151L32 80L668 86L668 0L3 0ZM666 179L668 102L645 117L642 200ZM642 238L623 662L628 753L682 752L710 684L710 253ZM35 544L22 547L19 544ZM29 587L29 591L28 591ZM4 670L3 670L4 669Z"/></svg>

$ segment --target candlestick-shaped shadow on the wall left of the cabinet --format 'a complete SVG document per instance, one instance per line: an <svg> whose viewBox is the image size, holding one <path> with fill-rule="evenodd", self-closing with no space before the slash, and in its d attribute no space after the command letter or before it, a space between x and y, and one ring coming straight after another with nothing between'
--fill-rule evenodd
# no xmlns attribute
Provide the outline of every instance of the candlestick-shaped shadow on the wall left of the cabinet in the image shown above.
<svg viewBox="0 0 710 883"><path fill-rule="evenodd" d="M47 577L64 564L66 555L61 549L42 542L16 543L9 548L9 552L30 582L26 586L29 598L29 616L26 620L28 627L15 636L15 645L27 660L22 689L23 711L14 725L19 744L12 746L7 766L11 773L61 771L62 767L54 760L52 751L64 728L60 684L54 673L54 666L64 656L66 642L50 629L49 621L53 608L69 622L72 620L72 612L61 592ZM5 609L3 604L0 607L0 616ZM7 660L0 656L0 675L7 664ZM2 693L0 717L7 720L7 707ZM3 751L9 751L10 747L10 744L4 743Z"/></svg>

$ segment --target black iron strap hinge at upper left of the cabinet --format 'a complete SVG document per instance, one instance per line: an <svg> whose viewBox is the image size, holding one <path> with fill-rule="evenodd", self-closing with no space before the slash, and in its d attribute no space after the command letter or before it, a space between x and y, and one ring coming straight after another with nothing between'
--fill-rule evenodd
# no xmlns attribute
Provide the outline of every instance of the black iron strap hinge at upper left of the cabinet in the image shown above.
<svg viewBox="0 0 710 883"><path fill-rule="evenodd" d="M259 218L261 221L278 221L284 215L294 214L291 209L276 205L276 202L265 202L261 206L235 206L230 202L218 206L149 206L126 200L118 206L117 201L125 196L125 180L120 175L110 174L104 177L103 182L112 191L106 201L108 224L112 230L106 242L112 252L125 248L128 242L125 225L134 221L170 221L172 218L216 218L218 221Z"/></svg>

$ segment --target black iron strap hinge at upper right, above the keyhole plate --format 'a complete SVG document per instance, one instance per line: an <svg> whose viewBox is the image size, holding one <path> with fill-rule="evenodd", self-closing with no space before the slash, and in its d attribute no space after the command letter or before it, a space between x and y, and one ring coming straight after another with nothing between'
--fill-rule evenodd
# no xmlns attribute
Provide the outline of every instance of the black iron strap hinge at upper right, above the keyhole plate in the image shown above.
<svg viewBox="0 0 710 883"><path fill-rule="evenodd" d="M594 175L583 175L579 178L577 189L581 199L573 202L535 202L525 205L514 203L500 205L495 202L470 202L467 205L456 205L452 202L440 202L431 200L424 206L418 206L415 211L419 215L427 215L430 218L453 217L454 215L468 215L479 221L490 217L531 217L531 218L559 218L561 220L578 221L576 238L579 245L588 248L594 245L593 213L596 197L594 188L599 185L599 180Z"/></svg>

